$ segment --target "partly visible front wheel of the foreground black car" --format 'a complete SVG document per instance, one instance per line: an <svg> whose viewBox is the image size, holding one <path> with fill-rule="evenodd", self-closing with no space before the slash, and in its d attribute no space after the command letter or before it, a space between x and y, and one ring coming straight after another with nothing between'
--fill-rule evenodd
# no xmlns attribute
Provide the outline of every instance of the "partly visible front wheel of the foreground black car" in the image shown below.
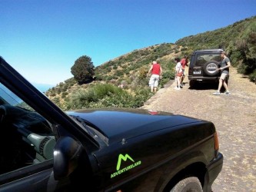
<svg viewBox="0 0 256 192"><path fill-rule="evenodd" d="M198 177L188 177L184 180L180 180L178 184L171 189L171 192L180 192L180 191L194 191L202 192L201 183L198 180Z"/></svg>

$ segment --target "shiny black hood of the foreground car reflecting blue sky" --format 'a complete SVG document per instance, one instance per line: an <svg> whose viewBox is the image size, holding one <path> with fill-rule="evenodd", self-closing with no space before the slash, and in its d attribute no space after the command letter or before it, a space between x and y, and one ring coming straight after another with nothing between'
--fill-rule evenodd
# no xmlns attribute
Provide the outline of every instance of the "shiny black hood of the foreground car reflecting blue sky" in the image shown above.
<svg viewBox="0 0 256 192"><path fill-rule="evenodd" d="M110 143L121 141L122 138L128 139L152 131L200 121L181 115L143 109L106 108L67 113L94 124L108 137Z"/></svg>

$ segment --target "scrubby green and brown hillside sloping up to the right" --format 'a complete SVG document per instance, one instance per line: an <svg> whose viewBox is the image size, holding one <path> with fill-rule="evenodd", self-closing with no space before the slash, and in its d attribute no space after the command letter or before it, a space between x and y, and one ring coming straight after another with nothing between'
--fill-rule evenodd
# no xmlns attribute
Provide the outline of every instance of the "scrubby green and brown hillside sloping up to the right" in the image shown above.
<svg viewBox="0 0 256 192"><path fill-rule="evenodd" d="M95 81L92 83L78 85L74 78L70 78L45 94L65 110L112 106L138 108L151 97L146 78L151 61L156 60L162 65L164 74L160 88L163 88L164 84L174 79L175 57L182 58L184 55L191 55L194 50L204 48L224 48L231 58L232 66L239 73L247 74L250 81L256 82L254 16L225 28L181 38L175 43L162 43L131 51L96 67ZM123 88L116 90L108 85L107 90L102 84L112 84L116 88L121 85ZM101 97L98 97L98 92ZM125 102L135 104L125 105Z"/></svg>

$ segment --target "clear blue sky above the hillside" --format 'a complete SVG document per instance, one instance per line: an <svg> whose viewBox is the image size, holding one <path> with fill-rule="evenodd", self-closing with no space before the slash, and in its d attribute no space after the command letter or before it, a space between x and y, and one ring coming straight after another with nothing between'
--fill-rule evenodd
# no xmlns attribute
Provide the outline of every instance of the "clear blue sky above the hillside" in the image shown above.
<svg viewBox="0 0 256 192"><path fill-rule="evenodd" d="M96 66L135 49L256 15L255 0L0 0L0 55L55 86L83 55Z"/></svg>

